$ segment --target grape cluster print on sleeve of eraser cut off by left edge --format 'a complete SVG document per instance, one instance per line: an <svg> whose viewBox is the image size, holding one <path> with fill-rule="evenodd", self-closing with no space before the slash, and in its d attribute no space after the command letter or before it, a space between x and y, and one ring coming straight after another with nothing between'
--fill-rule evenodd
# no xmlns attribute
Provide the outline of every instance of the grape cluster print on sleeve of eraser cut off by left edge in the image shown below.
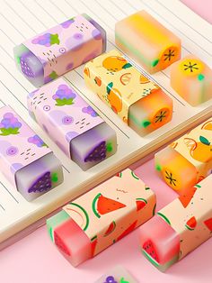
<svg viewBox="0 0 212 283"><path fill-rule="evenodd" d="M22 123L14 117L13 113L6 113L0 123L0 135L18 134Z"/></svg>

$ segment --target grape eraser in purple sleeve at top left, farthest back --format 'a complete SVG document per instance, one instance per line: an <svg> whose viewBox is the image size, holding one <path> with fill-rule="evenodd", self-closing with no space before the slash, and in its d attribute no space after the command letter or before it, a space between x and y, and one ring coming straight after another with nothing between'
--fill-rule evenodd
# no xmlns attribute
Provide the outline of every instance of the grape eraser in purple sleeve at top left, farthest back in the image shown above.
<svg viewBox="0 0 212 283"><path fill-rule="evenodd" d="M79 14L16 46L14 57L24 77L40 87L105 49L106 32L87 14Z"/></svg>

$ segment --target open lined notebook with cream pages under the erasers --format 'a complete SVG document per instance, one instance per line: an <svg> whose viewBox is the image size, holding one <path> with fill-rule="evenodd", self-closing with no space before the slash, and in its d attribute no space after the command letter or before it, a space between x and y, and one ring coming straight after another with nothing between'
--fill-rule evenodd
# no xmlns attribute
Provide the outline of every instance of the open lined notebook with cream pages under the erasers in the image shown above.
<svg viewBox="0 0 212 283"><path fill-rule="evenodd" d="M74 162L49 140L40 127L34 123L26 108L26 96L34 87L23 78L14 66L13 47L57 23L64 22L75 14L89 14L108 33L108 50L114 49L114 25L128 14L146 9L161 23L175 32L182 40L182 56L195 53L212 67L212 27L193 14L177 0L1 0L0 12L0 106L11 105L31 127L40 134L62 161L65 182L62 186L28 203L16 192L7 180L0 175L0 242L4 242L23 228L35 223L45 215L64 205L73 197L84 193L120 169L144 158L157 150L165 142L200 123L212 113L211 100L199 107L191 107L170 87L169 69L152 76L164 91L172 96L174 114L171 123L141 138L119 119L84 87L83 68L76 68L66 74L66 80L85 97L96 112L116 130L118 152L101 164L82 171ZM144 159L145 160L145 159ZM2 246L4 243L2 244Z"/></svg>

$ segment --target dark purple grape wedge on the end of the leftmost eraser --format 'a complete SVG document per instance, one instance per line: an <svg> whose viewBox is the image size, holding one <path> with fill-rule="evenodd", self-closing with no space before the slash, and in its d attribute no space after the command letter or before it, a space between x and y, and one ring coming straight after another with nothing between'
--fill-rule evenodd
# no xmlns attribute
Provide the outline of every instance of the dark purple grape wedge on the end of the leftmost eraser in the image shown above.
<svg viewBox="0 0 212 283"><path fill-rule="evenodd" d="M28 193L41 193L49 190L51 186L51 174L50 172L46 172L33 183L33 185L28 189Z"/></svg>

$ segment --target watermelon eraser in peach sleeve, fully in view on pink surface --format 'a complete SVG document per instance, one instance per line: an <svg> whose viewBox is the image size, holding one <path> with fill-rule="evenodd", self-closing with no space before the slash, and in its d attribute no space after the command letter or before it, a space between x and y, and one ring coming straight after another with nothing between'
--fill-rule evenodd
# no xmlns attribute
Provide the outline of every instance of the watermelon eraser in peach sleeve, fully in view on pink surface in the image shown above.
<svg viewBox="0 0 212 283"><path fill-rule="evenodd" d="M125 169L47 220L49 236L77 266L118 242L155 214L155 194Z"/></svg>

